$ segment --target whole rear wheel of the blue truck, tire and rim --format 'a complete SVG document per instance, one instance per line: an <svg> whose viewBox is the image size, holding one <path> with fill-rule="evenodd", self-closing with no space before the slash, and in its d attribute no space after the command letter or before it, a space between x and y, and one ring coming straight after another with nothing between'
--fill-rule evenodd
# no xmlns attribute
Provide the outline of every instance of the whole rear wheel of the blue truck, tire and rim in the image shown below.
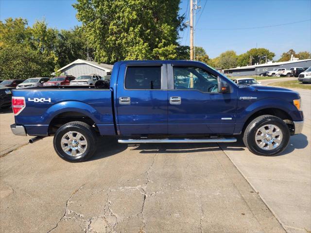
<svg viewBox="0 0 311 233"><path fill-rule="evenodd" d="M96 150L96 132L81 121L72 121L61 126L55 133L53 145L56 153L68 162L83 162Z"/></svg>

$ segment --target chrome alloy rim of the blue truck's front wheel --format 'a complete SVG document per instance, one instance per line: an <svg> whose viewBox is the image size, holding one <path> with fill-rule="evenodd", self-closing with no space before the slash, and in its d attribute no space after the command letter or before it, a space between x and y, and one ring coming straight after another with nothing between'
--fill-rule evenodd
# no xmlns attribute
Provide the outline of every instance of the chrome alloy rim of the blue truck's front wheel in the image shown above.
<svg viewBox="0 0 311 233"><path fill-rule="evenodd" d="M264 125L255 135L256 144L262 150L276 149L282 142L283 133L276 125Z"/></svg>

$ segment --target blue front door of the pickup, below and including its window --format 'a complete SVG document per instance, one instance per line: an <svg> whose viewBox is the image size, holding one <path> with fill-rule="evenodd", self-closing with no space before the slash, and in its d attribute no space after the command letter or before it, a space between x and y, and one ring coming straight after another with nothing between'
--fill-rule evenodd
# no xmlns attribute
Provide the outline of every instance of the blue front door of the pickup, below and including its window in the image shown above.
<svg viewBox="0 0 311 233"><path fill-rule="evenodd" d="M219 93L219 79L203 65L168 65L169 134L234 132L237 86L227 83L231 93Z"/></svg>

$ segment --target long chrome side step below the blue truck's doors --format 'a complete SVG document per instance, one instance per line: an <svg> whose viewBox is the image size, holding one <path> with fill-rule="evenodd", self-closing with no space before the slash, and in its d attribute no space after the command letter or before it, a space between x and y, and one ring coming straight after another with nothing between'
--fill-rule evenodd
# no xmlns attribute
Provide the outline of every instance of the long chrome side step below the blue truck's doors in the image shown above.
<svg viewBox="0 0 311 233"><path fill-rule="evenodd" d="M163 138L163 139L119 139L119 143L132 144L132 143L208 143L208 142L236 142L235 137L210 137L210 138Z"/></svg>

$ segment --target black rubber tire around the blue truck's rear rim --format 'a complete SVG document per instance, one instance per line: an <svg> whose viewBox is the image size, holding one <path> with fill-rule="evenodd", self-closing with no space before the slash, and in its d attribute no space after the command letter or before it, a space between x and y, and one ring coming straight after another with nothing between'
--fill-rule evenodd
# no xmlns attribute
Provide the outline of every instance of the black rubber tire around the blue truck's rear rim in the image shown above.
<svg viewBox="0 0 311 233"><path fill-rule="evenodd" d="M70 131L82 133L83 138L87 142L86 150L81 155L71 156L62 149L62 143L61 143L62 137ZM54 150L56 151L58 156L71 163L84 162L90 157L92 157L92 155L94 154L96 150L96 144L97 144L96 132L90 125L82 121L71 121L61 126L56 131L54 135L54 139L53 139Z"/></svg>

